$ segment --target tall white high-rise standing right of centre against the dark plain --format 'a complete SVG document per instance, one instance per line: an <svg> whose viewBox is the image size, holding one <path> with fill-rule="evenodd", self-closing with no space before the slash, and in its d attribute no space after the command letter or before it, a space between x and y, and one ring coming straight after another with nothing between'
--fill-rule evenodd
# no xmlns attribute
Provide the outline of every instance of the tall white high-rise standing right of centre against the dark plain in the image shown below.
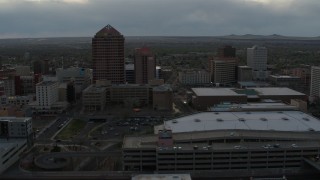
<svg viewBox="0 0 320 180"><path fill-rule="evenodd" d="M247 48L247 65L252 67L253 80L266 80L270 72L267 71L268 50L266 47L253 46Z"/></svg>

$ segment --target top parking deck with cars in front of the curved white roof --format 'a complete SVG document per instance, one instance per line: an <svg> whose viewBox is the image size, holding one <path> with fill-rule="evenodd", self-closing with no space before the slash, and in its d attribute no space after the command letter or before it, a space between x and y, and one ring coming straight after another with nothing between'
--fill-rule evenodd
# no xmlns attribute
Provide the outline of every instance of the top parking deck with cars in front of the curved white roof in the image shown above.
<svg viewBox="0 0 320 180"><path fill-rule="evenodd" d="M272 139L273 142L214 142L210 144L213 149L234 149L234 146L241 146L253 149L265 149L267 144L276 143L282 148L295 148L292 144L299 147L314 147L319 146L320 132L284 132L284 131L258 131L258 130L212 130L212 131L195 131L173 134L174 144L172 147L160 148L158 150L170 150L174 147L182 147L183 150L191 150L194 145L199 149L208 147L208 140L223 140L223 139ZM123 149L154 149L158 147L157 134L141 135L141 136L126 136L123 140ZM285 141L284 141L285 140ZM179 148L178 148L179 149Z"/></svg>

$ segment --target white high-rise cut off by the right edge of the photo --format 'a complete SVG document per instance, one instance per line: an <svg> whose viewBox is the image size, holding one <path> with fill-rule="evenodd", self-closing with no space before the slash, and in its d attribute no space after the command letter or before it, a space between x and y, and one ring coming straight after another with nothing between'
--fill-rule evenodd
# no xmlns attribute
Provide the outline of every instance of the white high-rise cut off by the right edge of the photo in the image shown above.
<svg viewBox="0 0 320 180"><path fill-rule="evenodd" d="M320 66L311 67L310 96L320 96Z"/></svg>

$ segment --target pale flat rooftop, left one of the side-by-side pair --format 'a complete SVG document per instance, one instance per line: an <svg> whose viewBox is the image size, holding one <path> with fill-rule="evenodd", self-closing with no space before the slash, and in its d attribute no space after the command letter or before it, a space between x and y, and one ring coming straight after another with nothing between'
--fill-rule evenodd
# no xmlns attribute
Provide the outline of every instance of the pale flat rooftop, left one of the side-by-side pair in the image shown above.
<svg viewBox="0 0 320 180"><path fill-rule="evenodd" d="M238 94L231 88L192 88L197 96L246 96Z"/></svg>

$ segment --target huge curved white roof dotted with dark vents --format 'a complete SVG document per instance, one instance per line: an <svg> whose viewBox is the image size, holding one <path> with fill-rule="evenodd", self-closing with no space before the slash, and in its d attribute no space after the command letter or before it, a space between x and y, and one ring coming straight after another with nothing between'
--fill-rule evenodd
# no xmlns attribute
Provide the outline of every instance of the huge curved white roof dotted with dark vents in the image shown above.
<svg viewBox="0 0 320 180"><path fill-rule="evenodd" d="M202 112L165 121L164 127L173 133L212 130L320 132L320 120L300 111Z"/></svg>

